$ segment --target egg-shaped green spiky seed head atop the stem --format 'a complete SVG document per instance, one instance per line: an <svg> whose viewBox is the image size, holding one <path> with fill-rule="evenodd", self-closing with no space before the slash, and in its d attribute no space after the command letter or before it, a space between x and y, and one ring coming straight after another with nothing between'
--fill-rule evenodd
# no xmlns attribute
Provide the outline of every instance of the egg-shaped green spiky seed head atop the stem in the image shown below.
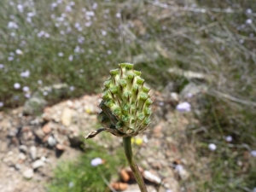
<svg viewBox="0 0 256 192"><path fill-rule="evenodd" d="M134 137L150 123L152 100L141 72L131 63L120 63L110 71L104 83L99 118L105 129L115 136Z"/></svg>

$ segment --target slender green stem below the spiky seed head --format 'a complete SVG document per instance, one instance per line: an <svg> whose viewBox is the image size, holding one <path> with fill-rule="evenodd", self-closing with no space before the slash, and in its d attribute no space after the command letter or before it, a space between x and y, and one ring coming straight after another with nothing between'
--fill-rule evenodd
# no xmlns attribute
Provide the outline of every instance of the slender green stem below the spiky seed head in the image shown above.
<svg viewBox="0 0 256 192"><path fill-rule="evenodd" d="M137 184L139 188L141 189L141 192L148 192L146 185L143 181L143 176L141 172L139 171L136 162L133 159L132 156L132 149L131 149L131 137L123 137L123 144L125 149L125 156L128 160L128 163L131 167L131 172L133 172L134 177L136 178Z"/></svg>

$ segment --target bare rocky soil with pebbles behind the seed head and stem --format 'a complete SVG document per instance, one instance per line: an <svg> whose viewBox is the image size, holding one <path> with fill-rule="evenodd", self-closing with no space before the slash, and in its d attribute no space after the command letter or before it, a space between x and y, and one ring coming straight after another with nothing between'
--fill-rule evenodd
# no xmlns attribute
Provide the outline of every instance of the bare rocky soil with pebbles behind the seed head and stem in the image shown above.
<svg viewBox="0 0 256 192"><path fill-rule="evenodd" d="M137 157L143 159L139 166L152 183L162 183L161 192L180 191L178 182L189 178L191 167L201 166L185 135L189 125L197 122L192 114L175 110L180 100L169 90L167 96L154 92L153 123L137 137L143 141L135 148ZM86 95L44 108L39 117L25 115L23 107L0 112L0 191L45 191L60 160L74 159L82 153L81 134L95 130L99 102L99 96ZM93 138L98 144L105 148L121 146L121 140L116 139L104 143L102 134L108 133ZM135 186L128 185L126 191L137 191ZM156 191L153 186L148 186L148 191Z"/></svg>

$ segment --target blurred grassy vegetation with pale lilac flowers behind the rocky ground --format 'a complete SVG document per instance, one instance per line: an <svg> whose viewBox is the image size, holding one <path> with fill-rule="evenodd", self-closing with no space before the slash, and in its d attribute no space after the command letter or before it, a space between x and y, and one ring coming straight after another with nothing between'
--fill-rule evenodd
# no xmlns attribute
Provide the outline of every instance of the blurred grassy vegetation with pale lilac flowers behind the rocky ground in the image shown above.
<svg viewBox="0 0 256 192"><path fill-rule="evenodd" d="M109 69L128 61L154 90L169 82L207 86L205 143L218 143L212 181L197 191L251 191L256 187L256 3L251 0L1 0L0 110L22 106L39 88L67 84L54 104L100 93ZM204 74L186 79L170 68ZM195 129L198 127L195 127ZM224 143L230 135L232 143ZM239 162L247 162L243 168ZM184 185L186 183L183 183Z"/></svg>

